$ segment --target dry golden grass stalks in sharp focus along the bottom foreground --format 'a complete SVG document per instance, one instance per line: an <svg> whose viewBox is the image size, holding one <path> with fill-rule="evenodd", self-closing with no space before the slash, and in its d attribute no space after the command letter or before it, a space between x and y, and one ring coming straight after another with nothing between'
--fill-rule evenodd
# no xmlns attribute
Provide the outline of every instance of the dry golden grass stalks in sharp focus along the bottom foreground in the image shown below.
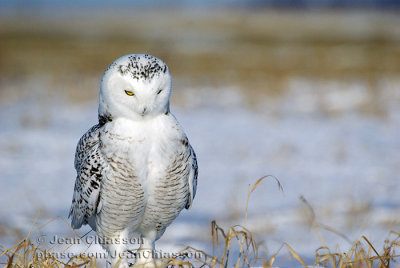
<svg viewBox="0 0 400 268"><path fill-rule="evenodd" d="M307 264L296 253L289 244L283 243L271 256L260 256L260 244L253 237L250 230L246 228L247 208L251 193L267 177L260 178L251 188L249 186L247 196L247 207L243 225L233 225L228 229L221 228L215 221L211 222L211 240L212 253L206 253L202 250L186 247L179 254L171 258L161 258L162 267L272 267L277 258L286 248L290 255L299 265L309 267L400 267L400 233L390 231L388 238L382 250L376 249L372 243L362 236L359 241L353 243L351 249L347 252L334 252L325 246L320 229L325 229L347 239L343 234L330 229L328 226L318 224L315 218L312 218L315 231L321 238L322 246L315 251L315 261L313 264ZM282 186L277 181L278 187ZM302 198L302 201L309 207L312 217L314 213L308 202ZM63 219L65 221L65 219ZM7 259L4 264L6 267L97 267L96 257L89 255L78 255L70 258L67 262L54 257L54 248L37 239L37 232L43 229L52 221L31 231L23 240L16 243L11 248L1 246L0 258ZM67 248L68 249L68 248ZM64 249L62 253L65 253ZM192 257L189 257L191 253ZM193 257L194 256L194 257Z"/></svg>

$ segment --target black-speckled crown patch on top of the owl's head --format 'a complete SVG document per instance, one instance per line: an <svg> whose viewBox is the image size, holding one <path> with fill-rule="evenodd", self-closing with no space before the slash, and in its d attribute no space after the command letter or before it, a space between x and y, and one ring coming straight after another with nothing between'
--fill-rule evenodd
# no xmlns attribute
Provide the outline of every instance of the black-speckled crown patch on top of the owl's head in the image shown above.
<svg viewBox="0 0 400 268"><path fill-rule="evenodd" d="M129 56L127 65L114 65L121 75L131 75L133 79L151 80L167 72L167 65L149 54ZM143 63L143 59L144 62Z"/></svg>

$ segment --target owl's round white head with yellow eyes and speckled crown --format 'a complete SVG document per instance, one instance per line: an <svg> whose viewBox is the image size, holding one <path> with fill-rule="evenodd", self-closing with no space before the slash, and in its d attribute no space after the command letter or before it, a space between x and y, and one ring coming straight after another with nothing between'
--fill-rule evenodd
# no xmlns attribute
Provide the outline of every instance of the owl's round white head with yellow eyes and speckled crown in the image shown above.
<svg viewBox="0 0 400 268"><path fill-rule="evenodd" d="M172 79L167 65L148 54L114 61L100 85L99 117L151 118L169 111Z"/></svg>

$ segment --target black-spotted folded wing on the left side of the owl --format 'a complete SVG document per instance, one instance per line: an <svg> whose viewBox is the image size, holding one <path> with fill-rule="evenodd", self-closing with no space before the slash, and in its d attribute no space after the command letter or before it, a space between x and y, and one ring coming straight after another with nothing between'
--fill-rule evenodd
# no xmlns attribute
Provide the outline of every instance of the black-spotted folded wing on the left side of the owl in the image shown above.
<svg viewBox="0 0 400 268"><path fill-rule="evenodd" d="M78 229L82 224L93 224L99 211L101 180L106 161L100 152L100 126L89 129L79 140L75 153L77 177L69 216L71 226Z"/></svg>

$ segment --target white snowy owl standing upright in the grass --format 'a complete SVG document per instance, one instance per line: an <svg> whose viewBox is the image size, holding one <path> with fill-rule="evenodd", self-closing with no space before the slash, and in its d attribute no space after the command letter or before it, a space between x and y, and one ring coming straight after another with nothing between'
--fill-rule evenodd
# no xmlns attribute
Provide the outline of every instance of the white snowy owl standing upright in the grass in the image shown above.
<svg viewBox="0 0 400 268"><path fill-rule="evenodd" d="M135 266L152 266L155 241L196 194L196 155L170 112L171 89L160 59L117 59L101 80L99 123L76 148L71 225L89 224L119 267L128 261L126 243L118 241L134 233L143 242Z"/></svg>

